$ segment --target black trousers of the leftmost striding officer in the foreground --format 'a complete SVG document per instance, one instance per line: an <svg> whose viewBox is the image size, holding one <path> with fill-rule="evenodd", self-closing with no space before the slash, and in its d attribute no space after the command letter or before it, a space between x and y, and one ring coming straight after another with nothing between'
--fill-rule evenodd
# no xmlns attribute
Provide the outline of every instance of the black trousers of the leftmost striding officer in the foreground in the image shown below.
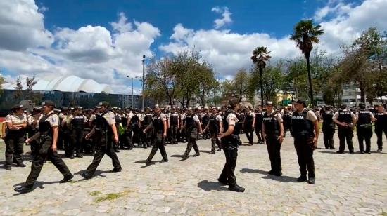
<svg viewBox="0 0 387 216"><path fill-rule="evenodd" d="M52 137L41 137L40 143L39 154L34 156L30 175L28 175L25 182L27 187L32 187L34 185L37 177L39 177L40 171L42 170L44 161L46 160L51 161L53 166L55 166L64 177L71 175L70 170L68 170L68 167L66 166L65 162L63 162L62 158L58 156L57 151L52 151Z"/></svg>

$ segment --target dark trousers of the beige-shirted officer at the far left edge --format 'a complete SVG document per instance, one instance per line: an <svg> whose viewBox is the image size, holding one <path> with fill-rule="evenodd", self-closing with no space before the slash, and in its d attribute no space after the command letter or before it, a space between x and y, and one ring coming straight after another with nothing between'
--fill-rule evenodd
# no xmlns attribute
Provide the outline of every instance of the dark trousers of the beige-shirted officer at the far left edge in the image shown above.
<svg viewBox="0 0 387 216"><path fill-rule="evenodd" d="M23 145L25 133L21 130L10 130L6 135L6 166L11 166L13 161L23 163Z"/></svg>

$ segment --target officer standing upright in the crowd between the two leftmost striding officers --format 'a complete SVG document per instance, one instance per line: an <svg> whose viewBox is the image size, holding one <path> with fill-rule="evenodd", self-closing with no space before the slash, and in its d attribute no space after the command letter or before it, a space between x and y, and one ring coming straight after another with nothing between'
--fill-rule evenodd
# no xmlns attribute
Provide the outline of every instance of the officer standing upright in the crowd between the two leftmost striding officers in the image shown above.
<svg viewBox="0 0 387 216"><path fill-rule="evenodd" d="M70 154L74 155L74 150L76 152L77 158L82 158L83 151L83 137L84 137L84 123L87 122L86 117L82 114L82 107L75 107L74 114L72 116L72 120L70 123L70 131L71 131L71 140L72 147L70 149Z"/></svg>

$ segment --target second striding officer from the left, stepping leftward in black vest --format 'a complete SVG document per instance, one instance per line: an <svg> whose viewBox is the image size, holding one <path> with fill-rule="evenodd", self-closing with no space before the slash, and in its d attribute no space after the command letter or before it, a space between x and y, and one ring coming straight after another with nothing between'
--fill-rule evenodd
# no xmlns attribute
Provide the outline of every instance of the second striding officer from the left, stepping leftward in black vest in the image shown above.
<svg viewBox="0 0 387 216"><path fill-rule="evenodd" d="M93 162L87 167L87 169L81 173L82 177L89 179L93 177L96 172L96 168L99 166L103 156L107 154L113 163L113 170L111 173L121 172L121 164L118 161L117 154L113 149L113 142L118 142L117 128L115 128L115 116L109 108L109 103L106 101L99 102L96 106L98 114L96 114L96 125L86 135L86 139L89 139L91 135L95 134L96 140L96 154L94 155Z"/></svg>

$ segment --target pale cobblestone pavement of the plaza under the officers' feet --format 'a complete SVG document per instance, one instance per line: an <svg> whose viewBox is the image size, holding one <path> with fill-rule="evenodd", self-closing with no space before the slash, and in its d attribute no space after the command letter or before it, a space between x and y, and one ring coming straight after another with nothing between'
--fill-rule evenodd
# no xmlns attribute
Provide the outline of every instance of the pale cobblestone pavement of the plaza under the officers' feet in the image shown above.
<svg viewBox="0 0 387 216"><path fill-rule="evenodd" d="M246 141L245 135L241 137ZM320 137L319 147L323 147ZM335 139L337 147L337 134ZM372 141L376 150L375 135ZM107 172L113 167L105 156L91 180L79 175L91 156L66 158L76 175L65 184L58 183L61 173L47 162L36 189L17 195L13 187L25 181L31 163L4 170L1 142L0 215L386 215L387 153L338 155L335 150L317 149L316 184L310 185L296 182L299 171L291 137L286 137L281 149L282 177L267 175L265 144L243 145L236 177L246 191L236 193L217 183L224 154L208 154L209 140L198 144L201 156L186 161L180 161L186 144L168 144L169 162L159 163L158 153L156 163L146 168L144 160L151 149L121 151L121 173Z"/></svg>

